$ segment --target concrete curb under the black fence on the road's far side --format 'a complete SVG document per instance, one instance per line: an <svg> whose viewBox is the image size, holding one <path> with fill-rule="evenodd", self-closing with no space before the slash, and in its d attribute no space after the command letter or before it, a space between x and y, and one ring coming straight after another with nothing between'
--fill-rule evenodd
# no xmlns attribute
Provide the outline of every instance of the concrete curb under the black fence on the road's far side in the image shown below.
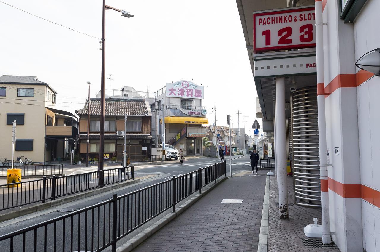
<svg viewBox="0 0 380 252"><path fill-rule="evenodd" d="M7 220L10 220L10 219L13 219L13 218L16 218L19 216L23 216L23 215L26 215L29 213L41 211L41 210L44 210L44 209L47 209L50 207L55 207L57 205L62 205L64 203L72 202L72 201L77 200L77 199L82 199L85 197L90 197L90 196L94 196L94 195L97 195L100 193L112 191L113 189L117 189L117 188L127 186L127 185L132 185L132 184L139 183L139 182L140 182L139 179L135 179L135 180L131 180L131 181L125 181L122 183L113 184L113 185L106 186L103 188L96 188L93 190L88 190L88 191L85 191L82 193L70 194L70 195L62 197L62 198L59 197L58 199L51 200L49 202L38 203L38 204L33 205L33 206L27 206L27 207L24 207L20 210L15 210L15 211L11 211L11 212L8 212L5 214L0 214L0 222L7 221Z"/></svg>

